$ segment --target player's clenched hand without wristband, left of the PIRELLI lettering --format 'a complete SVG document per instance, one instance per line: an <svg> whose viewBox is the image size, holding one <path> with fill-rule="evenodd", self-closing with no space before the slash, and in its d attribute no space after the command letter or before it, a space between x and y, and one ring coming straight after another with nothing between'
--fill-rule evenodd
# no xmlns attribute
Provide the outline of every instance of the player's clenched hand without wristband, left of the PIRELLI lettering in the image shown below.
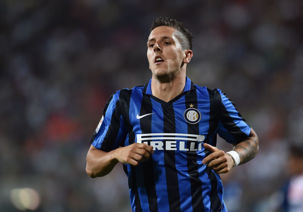
<svg viewBox="0 0 303 212"><path fill-rule="evenodd" d="M139 162L148 160L149 156L154 153L153 146L148 146L145 143L133 143L129 146L120 147L114 151L116 160L133 166L138 166Z"/></svg>

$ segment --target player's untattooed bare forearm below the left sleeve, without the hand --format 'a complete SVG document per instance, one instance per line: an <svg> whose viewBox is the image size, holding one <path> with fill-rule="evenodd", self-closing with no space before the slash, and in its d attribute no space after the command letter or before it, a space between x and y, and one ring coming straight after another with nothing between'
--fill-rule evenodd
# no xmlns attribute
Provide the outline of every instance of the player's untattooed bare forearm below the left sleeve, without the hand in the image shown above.
<svg viewBox="0 0 303 212"><path fill-rule="evenodd" d="M103 177L110 173L118 160L114 152L104 152L91 147L86 156L86 173L92 177Z"/></svg>

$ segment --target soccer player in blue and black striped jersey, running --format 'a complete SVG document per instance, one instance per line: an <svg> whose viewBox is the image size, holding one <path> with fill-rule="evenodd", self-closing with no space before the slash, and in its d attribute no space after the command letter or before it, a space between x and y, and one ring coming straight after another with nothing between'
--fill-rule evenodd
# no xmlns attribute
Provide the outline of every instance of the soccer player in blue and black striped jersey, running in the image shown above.
<svg viewBox="0 0 303 212"><path fill-rule="evenodd" d="M86 172L102 177L123 163L134 212L227 211L219 174L258 153L235 104L186 76L191 41L182 22L155 19L147 41L152 78L115 92L90 139ZM217 134L232 151L216 148Z"/></svg>

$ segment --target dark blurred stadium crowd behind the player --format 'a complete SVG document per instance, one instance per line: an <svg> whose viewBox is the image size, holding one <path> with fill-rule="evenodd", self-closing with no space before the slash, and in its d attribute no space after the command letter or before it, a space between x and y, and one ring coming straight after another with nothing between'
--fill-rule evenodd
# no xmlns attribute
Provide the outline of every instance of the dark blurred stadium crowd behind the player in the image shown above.
<svg viewBox="0 0 303 212"><path fill-rule="evenodd" d="M301 0L1 0L0 211L131 211L122 165L91 179L85 157L108 97L151 78L160 16L192 32L187 76L259 136L256 158L221 175L229 211L279 211L288 144L303 142Z"/></svg>

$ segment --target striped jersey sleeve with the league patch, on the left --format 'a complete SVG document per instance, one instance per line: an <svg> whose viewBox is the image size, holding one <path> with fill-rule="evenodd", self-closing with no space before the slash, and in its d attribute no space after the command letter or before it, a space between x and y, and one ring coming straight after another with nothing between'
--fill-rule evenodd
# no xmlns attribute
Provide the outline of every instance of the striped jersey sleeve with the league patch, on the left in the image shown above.
<svg viewBox="0 0 303 212"><path fill-rule="evenodd" d="M103 116L89 142L105 152L117 149L125 140L125 125L121 115L118 93L114 93L105 104Z"/></svg>

